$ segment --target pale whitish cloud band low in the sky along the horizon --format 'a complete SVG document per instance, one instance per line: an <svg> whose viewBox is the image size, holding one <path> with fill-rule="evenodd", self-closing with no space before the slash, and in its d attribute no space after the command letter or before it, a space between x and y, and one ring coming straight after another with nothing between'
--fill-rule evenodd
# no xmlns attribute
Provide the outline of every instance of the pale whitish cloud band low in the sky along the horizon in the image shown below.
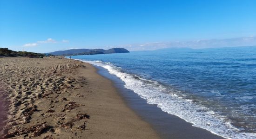
<svg viewBox="0 0 256 139"><path fill-rule="evenodd" d="M37 41L36 43L24 44L23 47L52 47L55 44L65 43L62 49L59 50L68 50L68 49L82 49L90 48L86 46L77 46L74 44L69 45L69 40L56 41L52 38L48 38L44 41ZM51 45L48 45L51 44ZM208 39L208 40L193 40L193 41L169 41L169 42L152 42L144 44L125 44L125 45L109 45L109 46L100 46L94 48L101 49L110 49L115 47L122 47L129 51L153 51L157 49L165 48L193 48L193 49L202 49L202 48L220 48L220 47L236 47L236 46L256 46L256 37L241 37L241 38L226 38L226 39ZM48 51L47 51L48 52Z"/></svg>

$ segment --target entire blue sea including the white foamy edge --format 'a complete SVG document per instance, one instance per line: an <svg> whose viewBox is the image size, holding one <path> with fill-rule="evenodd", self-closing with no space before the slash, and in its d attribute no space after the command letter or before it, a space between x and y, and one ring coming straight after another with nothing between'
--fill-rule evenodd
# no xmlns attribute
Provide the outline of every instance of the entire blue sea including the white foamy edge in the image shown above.
<svg viewBox="0 0 256 139"><path fill-rule="evenodd" d="M256 46L73 56L101 66L125 88L225 138L256 138Z"/></svg>

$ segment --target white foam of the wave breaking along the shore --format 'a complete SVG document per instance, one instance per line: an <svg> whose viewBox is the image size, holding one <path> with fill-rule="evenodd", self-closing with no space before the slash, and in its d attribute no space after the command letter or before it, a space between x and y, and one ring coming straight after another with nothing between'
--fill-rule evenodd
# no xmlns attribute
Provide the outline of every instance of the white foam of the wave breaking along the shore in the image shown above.
<svg viewBox="0 0 256 139"><path fill-rule="evenodd" d="M256 133L243 133L235 126L232 126L230 120L222 115L191 100L186 100L184 97L175 94L175 91L170 91L158 82L122 72L121 68L115 67L111 63L103 63L102 61L84 62L107 69L110 74L119 77L125 82L125 88L133 90L141 98L147 100L149 104L156 104L162 111L174 114L192 123L193 126L206 129L227 139L256 138Z"/></svg>

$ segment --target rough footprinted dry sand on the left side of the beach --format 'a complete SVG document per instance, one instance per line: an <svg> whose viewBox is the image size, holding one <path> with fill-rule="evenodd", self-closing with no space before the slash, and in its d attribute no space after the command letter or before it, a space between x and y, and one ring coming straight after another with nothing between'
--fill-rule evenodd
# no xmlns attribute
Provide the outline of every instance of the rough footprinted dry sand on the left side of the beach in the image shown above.
<svg viewBox="0 0 256 139"><path fill-rule="evenodd" d="M74 71L81 62L66 58L0 58L0 84L7 95L8 122L4 137L36 137L49 132L46 138L61 129L72 128L77 119L65 117L79 107L67 99L71 90L79 88ZM79 114L78 114L79 115ZM85 122L78 129L85 129ZM29 127L29 128L28 128Z"/></svg>

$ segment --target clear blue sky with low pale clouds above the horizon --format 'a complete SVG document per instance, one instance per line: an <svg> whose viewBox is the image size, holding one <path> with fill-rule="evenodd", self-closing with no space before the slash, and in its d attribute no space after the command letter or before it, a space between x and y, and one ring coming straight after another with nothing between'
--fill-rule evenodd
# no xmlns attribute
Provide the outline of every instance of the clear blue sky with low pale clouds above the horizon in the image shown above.
<svg viewBox="0 0 256 139"><path fill-rule="evenodd" d="M256 0L0 0L0 47L256 45Z"/></svg>

